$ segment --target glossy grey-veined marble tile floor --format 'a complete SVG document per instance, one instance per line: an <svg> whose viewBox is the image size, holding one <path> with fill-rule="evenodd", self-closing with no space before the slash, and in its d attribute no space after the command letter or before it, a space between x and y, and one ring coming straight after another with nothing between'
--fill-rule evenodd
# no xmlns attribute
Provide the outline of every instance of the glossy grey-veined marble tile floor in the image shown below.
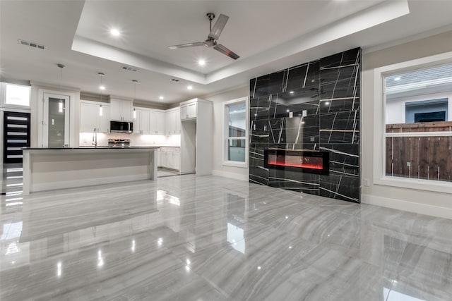
<svg viewBox="0 0 452 301"><path fill-rule="evenodd" d="M0 300L452 300L452 220L218 176L1 198Z"/></svg>

